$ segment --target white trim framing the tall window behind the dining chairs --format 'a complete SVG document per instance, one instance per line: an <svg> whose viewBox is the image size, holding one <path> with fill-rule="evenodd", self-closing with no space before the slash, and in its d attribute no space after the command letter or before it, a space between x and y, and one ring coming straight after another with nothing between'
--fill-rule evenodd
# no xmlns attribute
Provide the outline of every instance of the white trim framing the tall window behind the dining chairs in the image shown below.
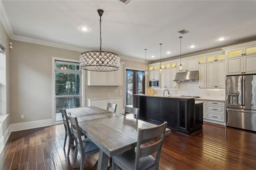
<svg viewBox="0 0 256 170"><path fill-rule="evenodd" d="M66 58L60 58L60 57L52 57L52 124L61 124L63 122L55 122L56 119L56 114L55 114L55 60L61 60L61 61L67 61L67 62L76 62L79 63L79 60L75 59L66 59ZM80 107L85 107L85 75L84 75L84 70L82 70L81 73L81 90L82 90L82 99L81 99L81 106Z"/></svg>

